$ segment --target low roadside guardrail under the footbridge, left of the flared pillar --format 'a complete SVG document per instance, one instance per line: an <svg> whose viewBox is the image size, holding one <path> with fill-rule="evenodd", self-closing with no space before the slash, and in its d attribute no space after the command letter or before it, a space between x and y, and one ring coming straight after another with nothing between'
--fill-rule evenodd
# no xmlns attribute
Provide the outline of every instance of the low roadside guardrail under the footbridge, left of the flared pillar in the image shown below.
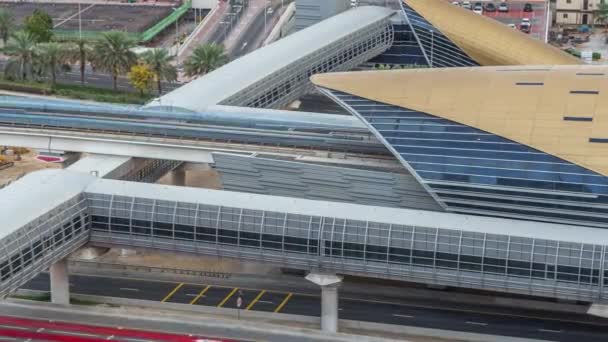
<svg viewBox="0 0 608 342"><path fill-rule="evenodd" d="M153 266L140 266L140 265L126 265L126 264L114 264L105 262L95 261L82 261L82 260L70 260L70 267L82 267L89 269L99 270L114 270L114 271L130 271L139 273L160 273L160 274L179 274L189 275L202 278L220 278L229 279L232 277L232 273L228 272L216 272L216 271L199 271L199 270L186 270L178 268L168 267L153 267Z"/></svg>

